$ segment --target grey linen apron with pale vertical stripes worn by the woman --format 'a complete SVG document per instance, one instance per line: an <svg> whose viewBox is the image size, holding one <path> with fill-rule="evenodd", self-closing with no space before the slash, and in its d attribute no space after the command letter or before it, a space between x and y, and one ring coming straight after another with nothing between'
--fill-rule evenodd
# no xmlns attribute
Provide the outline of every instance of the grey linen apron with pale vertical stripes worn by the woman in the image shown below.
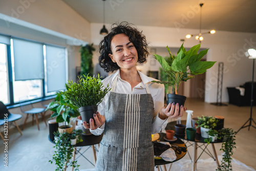
<svg viewBox="0 0 256 171"><path fill-rule="evenodd" d="M105 129L95 170L154 170L151 130L154 103L147 94L115 93L114 79L105 107Z"/></svg>

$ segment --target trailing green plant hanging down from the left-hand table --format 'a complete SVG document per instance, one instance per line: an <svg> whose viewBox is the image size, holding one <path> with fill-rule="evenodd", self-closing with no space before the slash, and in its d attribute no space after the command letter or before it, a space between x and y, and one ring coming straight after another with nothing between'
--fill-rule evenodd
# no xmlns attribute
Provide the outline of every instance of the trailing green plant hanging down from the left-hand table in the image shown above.
<svg viewBox="0 0 256 171"><path fill-rule="evenodd" d="M79 165L77 164L77 161L71 160L74 148L71 145L70 139L73 135L74 134L70 133L62 133L55 141L55 154L53 155L52 160L49 160L49 162L51 162L52 164L53 161L55 161L55 164L57 165L56 170L64 170L66 167L68 167L68 164L71 164L71 166L73 166L75 170L79 170Z"/></svg>

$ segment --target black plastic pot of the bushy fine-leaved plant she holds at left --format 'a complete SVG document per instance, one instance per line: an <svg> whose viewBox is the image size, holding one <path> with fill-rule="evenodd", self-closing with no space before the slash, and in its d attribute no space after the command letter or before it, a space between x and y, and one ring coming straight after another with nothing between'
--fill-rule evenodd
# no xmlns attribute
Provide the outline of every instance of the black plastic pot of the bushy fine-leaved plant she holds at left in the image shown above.
<svg viewBox="0 0 256 171"><path fill-rule="evenodd" d="M97 105L83 106L79 108L82 121L86 121L87 123L90 123L91 118L94 120L93 114L95 114L97 110L98 110Z"/></svg>

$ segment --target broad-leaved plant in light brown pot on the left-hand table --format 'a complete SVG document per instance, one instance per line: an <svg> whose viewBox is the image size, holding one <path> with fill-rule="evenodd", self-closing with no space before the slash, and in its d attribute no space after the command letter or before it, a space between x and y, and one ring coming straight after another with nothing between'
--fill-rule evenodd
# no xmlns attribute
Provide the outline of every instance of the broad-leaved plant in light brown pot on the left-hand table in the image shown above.
<svg viewBox="0 0 256 171"><path fill-rule="evenodd" d="M67 86L66 86L67 87ZM69 87L67 87L69 89ZM60 92L57 93L55 101L52 101L47 106L47 110L53 111L51 118L56 117L56 122L64 122L64 125L59 126L60 133L73 131L72 126L69 125L70 118L79 116L78 108L74 106L69 100L64 100L64 96Z"/></svg>

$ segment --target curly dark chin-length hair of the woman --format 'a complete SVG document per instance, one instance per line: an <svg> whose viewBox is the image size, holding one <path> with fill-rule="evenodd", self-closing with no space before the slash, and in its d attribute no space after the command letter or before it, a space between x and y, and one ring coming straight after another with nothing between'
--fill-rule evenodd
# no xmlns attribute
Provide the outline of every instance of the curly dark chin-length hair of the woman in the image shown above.
<svg viewBox="0 0 256 171"><path fill-rule="evenodd" d="M143 63L146 61L147 56L149 55L147 51L147 42L145 35L142 34L142 31L139 32L137 28L131 27L127 22L122 22L120 24L113 24L111 32L101 40L99 44L99 65L106 72L113 72L118 70L120 67L114 63L109 54L113 54L111 51L111 41L112 38L117 34L126 34L129 37L129 40L135 46L138 53L138 62Z"/></svg>

